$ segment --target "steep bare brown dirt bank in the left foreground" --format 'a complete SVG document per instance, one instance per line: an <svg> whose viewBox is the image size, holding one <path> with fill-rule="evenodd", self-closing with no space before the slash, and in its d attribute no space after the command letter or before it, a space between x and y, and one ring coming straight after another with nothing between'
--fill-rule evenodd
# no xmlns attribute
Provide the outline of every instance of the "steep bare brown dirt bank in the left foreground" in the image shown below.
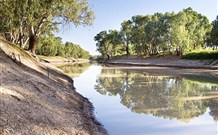
<svg viewBox="0 0 218 135"><path fill-rule="evenodd" d="M104 135L106 131L70 77L0 41L0 134Z"/></svg>

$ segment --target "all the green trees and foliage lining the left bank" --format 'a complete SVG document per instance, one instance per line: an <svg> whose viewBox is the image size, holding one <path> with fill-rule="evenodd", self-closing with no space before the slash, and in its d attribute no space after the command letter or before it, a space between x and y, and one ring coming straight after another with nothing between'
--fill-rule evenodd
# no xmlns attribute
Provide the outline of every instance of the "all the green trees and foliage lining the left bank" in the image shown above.
<svg viewBox="0 0 218 135"><path fill-rule="evenodd" d="M78 45L63 44L51 34L72 24L92 25L95 15L87 0L4 0L0 2L0 18L1 36L33 55L89 57Z"/></svg>

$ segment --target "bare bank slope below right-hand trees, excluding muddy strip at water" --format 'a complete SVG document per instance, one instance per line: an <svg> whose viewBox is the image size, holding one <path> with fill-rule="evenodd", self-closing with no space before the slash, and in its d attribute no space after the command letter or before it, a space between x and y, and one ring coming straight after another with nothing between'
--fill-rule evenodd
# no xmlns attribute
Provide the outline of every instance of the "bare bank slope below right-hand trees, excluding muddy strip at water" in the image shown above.
<svg viewBox="0 0 218 135"><path fill-rule="evenodd" d="M218 70L218 60L187 60L174 56L139 58L126 56L110 59L104 63L115 65L145 66L145 67L175 67L187 69Z"/></svg>

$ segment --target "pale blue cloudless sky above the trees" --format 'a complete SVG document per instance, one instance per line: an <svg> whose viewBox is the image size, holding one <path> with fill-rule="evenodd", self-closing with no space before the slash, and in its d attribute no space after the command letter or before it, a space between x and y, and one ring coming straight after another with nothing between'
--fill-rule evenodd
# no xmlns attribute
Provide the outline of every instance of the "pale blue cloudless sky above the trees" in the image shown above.
<svg viewBox="0 0 218 135"><path fill-rule="evenodd" d="M93 26L73 27L56 36L62 37L63 42L69 41L79 44L91 54L96 52L94 36L103 30L120 30L124 20L131 19L134 15L147 15L156 12L175 13L191 7L208 17L212 22L218 15L218 0L89 0L96 19Z"/></svg>

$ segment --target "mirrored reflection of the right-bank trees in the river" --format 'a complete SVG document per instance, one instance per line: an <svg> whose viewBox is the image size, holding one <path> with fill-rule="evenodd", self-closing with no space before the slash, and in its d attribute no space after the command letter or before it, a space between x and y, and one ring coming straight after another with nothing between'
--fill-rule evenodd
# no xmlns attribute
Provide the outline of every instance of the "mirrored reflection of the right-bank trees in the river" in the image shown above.
<svg viewBox="0 0 218 135"><path fill-rule="evenodd" d="M218 85L213 82L103 68L95 89L102 95L119 95L121 103L132 112L188 122L204 114L207 108L218 120Z"/></svg>

